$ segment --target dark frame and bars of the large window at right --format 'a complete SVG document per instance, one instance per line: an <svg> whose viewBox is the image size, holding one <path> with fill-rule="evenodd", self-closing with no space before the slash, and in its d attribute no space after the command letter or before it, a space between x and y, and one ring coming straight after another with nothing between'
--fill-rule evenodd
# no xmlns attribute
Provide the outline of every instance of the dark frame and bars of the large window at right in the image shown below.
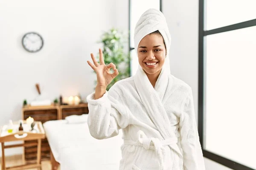
<svg viewBox="0 0 256 170"><path fill-rule="evenodd" d="M216 28L212 30L204 30L205 26L205 13L206 13L206 4L207 0L199 0L199 46L198 46L198 57L199 57L199 62L198 62L198 132L199 132L199 137L200 137L200 143L202 146L203 150L203 155L204 157L211 159L215 162L218 162L226 167L232 168L233 170L253 170L250 167L247 167L245 165L239 164L238 162L232 161L230 159L224 158L222 156L216 155L215 153L209 152L207 150L204 150L204 113L205 113L205 100L204 100L204 88L205 88L205 82L204 82L204 74L205 74L205 61L204 57L205 55L205 47L206 47L206 42L205 42L205 37L207 35L212 35L212 34L218 34L221 32L226 32L226 31L233 31L236 29L242 29L242 28L247 28L251 26L256 26L256 19L254 20L248 20L245 22L241 23L236 23L230 26L224 26L221 28Z"/></svg>

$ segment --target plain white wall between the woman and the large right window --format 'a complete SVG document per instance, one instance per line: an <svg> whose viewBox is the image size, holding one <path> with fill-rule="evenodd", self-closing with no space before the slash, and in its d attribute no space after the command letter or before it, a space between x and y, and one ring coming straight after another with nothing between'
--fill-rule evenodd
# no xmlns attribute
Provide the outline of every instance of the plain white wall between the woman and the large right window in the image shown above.
<svg viewBox="0 0 256 170"><path fill-rule="evenodd" d="M162 0L172 45L170 49L171 73L191 86L195 113L198 118L198 0ZM205 158L207 170L230 170Z"/></svg>

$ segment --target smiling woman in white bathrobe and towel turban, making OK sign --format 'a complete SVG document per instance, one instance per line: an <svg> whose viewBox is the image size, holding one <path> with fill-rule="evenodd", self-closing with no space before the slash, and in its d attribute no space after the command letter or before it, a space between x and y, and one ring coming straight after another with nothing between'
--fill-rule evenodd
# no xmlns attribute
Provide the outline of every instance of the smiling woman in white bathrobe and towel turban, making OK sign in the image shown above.
<svg viewBox="0 0 256 170"><path fill-rule="evenodd" d="M133 77L107 85L118 75L116 66L91 54L97 73L95 93L87 96L88 126L96 139L123 130L119 170L204 170L195 121L192 90L170 74L171 36L163 14L145 11L134 33L140 66ZM113 68L114 73L109 72Z"/></svg>

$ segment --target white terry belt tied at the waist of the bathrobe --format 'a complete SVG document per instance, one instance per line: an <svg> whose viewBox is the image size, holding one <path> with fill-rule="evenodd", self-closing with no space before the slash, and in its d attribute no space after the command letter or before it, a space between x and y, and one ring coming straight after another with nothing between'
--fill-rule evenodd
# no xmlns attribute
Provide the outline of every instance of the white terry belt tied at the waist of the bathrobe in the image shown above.
<svg viewBox="0 0 256 170"><path fill-rule="evenodd" d="M160 170L164 170L164 157L166 152L164 147L172 144L177 144L178 139L175 137L160 141L158 138L148 138L142 130L138 131L137 135L137 142L134 142L132 140L124 140L124 144L143 146L146 150L155 150L159 159Z"/></svg>

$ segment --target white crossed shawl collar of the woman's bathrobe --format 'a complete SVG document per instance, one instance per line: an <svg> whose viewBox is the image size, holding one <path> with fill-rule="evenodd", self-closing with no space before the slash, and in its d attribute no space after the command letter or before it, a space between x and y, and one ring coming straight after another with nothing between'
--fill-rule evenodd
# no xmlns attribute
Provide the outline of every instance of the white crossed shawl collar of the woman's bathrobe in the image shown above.
<svg viewBox="0 0 256 170"><path fill-rule="evenodd" d="M169 62L169 59L167 58L165 62ZM145 106L148 116L163 137L162 140L177 137L174 131L172 131L171 123L163 105L172 93L170 91L170 89L172 89L172 82L173 79L170 77L169 71L168 69L166 70L165 67L163 67L160 72L155 88L151 85L143 68L138 68L134 76L134 83L140 99ZM172 144L169 147L182 157L177 144Z"/></svg>

